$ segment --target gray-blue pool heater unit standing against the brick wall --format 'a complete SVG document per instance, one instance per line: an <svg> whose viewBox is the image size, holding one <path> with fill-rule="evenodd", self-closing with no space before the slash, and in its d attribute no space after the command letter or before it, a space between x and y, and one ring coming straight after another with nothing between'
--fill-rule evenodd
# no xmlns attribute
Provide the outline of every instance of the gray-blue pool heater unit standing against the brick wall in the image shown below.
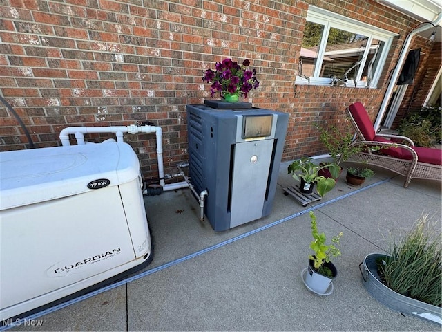
<svg viewBox="0 0 442 332"><path fill-rule="evenodd" d="M289 116L250 103L187 105L189 177L207 190L204 213L215 231L271 212Z"/></svg>

